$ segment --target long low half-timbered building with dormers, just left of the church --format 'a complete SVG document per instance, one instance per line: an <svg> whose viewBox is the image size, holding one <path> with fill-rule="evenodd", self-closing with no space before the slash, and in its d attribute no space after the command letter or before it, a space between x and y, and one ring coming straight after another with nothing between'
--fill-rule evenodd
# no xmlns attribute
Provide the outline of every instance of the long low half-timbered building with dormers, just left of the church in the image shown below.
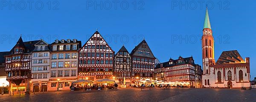
<svg viewBox="0 0 256 102"><path fill-rule="evenodd" d="M200 70L198 73L195 71ZM194 63L193 57L179 57L178 59L169 59L155 67L155 78L166 82L186 83L186 86L197 87L201 83L201 66ZM198 77L198 78L196 78Z"/></svg>

